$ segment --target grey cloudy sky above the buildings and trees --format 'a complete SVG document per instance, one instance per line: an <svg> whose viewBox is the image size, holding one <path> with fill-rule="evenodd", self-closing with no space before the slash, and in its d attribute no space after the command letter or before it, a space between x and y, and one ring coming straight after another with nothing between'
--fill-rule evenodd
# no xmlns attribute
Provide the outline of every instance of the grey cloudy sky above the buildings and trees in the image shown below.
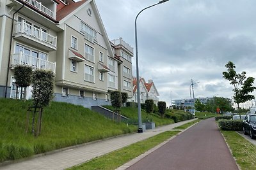
<svg viewBox="0 0 256 170"><path fill-rule="evenodd" d="M136 75L134 19L159 1L95 1L109 39L122 37L134 47ZM191 78L199 82L195 97L231 98L232 86L222 78L228 61L256 78L255 6L255 0L170 0L143 11L137 20L140 76L154 80L159 100L168 104L171 91L172 100L190 98Z"/></svg>

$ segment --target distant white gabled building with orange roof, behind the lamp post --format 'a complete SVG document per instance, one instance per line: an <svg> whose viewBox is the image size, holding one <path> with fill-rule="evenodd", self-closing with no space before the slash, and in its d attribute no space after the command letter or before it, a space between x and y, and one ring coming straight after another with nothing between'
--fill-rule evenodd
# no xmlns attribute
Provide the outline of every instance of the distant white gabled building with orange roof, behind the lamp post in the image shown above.
<svg viewBox="0 0 256 170"><path fill-rule="evenodd" d="M136 102L138 101L137 95L137 79L133 78L133 97L129 99L129 101ZM140 100L141 103L145 103L146 100L152 99L154 104L157 104L159 101L159 93L157 92L156 85L154 84L153 80L145 81L144 78L140 78Z"/></svg>

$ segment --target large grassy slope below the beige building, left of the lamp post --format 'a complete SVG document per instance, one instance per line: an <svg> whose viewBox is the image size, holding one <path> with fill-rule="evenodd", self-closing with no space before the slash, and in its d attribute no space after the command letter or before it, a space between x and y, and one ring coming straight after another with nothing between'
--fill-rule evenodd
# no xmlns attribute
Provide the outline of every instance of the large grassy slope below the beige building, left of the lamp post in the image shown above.
<svg viewBox="0 0 256 170"><path fill-rule="evenodd" d="M28 106L31 101L0 99L0 162L137 129L134 125L116 124L83 106L52 102L44 109L42 134L35 138L25 133ZM31 119L29 125L31 130Z"/></svg>

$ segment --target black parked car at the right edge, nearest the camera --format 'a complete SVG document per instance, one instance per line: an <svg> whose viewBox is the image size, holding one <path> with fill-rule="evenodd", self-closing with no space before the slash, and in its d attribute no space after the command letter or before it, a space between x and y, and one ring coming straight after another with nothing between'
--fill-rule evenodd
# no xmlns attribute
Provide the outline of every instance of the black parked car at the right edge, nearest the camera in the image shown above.
<svg viewBox="0 0 256 170"><path fill-rule="evenodd" d="M256 114L248 114L243 121L244 134L250 134L252 139L256 138Z"/></svg>

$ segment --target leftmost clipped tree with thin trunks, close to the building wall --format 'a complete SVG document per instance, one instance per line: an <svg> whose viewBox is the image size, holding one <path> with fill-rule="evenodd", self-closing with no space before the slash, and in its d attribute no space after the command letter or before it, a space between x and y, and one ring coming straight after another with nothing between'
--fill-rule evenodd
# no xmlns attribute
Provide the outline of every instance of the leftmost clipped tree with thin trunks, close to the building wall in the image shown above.
<svg viewBox="0 0 256 170"><path fill-rule="evenodd" d="M18 97L18 87L21 87L20 99L22 99L22 89L24 87L24 101L26 101L27 87L31 84L32 68L28 66L17 66L14 68L14 78L16 80L16 95Z"/></svg>

